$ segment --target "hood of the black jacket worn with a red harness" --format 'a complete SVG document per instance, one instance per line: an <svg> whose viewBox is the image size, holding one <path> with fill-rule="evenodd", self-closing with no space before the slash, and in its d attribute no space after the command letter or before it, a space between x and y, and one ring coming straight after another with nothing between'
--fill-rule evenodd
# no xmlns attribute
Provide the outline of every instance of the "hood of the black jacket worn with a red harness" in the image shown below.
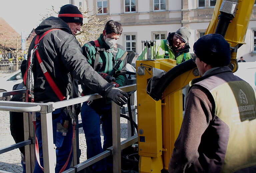
<svg viewBox="0 0 256 173"><path fill-rule="evenodd" d="M67 23L58 17L49 17L43 20L43 22L40 23L40 25L35 29L35 33L40 35L50 29L61 29L69 34L72 34Z"/></svg>

